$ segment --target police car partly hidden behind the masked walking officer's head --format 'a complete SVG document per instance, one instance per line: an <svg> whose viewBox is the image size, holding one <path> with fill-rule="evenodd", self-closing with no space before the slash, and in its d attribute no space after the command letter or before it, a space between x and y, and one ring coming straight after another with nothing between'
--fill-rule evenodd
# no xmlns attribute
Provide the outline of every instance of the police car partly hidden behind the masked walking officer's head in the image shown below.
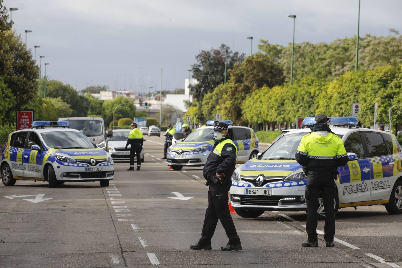
<svg viewBox="0 0 402 268"><path fill-rule="evenodd" d="M212 138L216 122L218 121L207 121L207 126L196 129L185 139L174 143L166 155L168 166L172 166L174 170L181 170L183 166L204 166L215 143ZM252 129L232 126L233 122L230 120L220 122L229 125L229 135L238 148L237 163L245 163L257 156L258 139Z"/></svg>

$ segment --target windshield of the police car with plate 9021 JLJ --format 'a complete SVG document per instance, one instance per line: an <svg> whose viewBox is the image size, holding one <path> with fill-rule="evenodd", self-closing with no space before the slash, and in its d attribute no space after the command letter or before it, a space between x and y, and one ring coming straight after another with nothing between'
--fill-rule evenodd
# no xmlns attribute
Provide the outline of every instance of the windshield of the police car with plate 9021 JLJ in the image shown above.
<svg viewBox="0 0 402 268"><path fill-rule="evenodd" d="M43 141L55 149L93 149L96 148L84 134L75 131L52 131L41 133Z"/></svg>

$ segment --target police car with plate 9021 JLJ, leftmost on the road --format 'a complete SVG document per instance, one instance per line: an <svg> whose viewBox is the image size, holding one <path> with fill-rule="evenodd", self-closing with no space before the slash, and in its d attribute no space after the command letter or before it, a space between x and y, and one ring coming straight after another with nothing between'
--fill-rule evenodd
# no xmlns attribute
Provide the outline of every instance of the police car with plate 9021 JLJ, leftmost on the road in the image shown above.
<svg viewBox="0 0 402 268"><path fill-rule="evenodd" d="M0 171L6 186L16 180L39 180L49 182L49 187L92 181L104 187L113 180L114 164L109 153L70 129L67 121L34 121L32 129L8 135Z"/></svg>

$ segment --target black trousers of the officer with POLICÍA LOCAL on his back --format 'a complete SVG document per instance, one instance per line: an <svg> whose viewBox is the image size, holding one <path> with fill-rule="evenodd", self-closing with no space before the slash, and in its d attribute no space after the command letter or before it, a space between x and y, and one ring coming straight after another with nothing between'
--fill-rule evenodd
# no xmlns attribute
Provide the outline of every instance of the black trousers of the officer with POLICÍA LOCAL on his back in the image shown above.
<svg viewBox="0 0 402 268"><path fill-rule="evenodd" d="M306 231L308 239L312 242L317 241L317 209L318 194L322 194L322 202L325 210L324 239L327 242L334 241L335 235L335 215L334 198L335 184L334 174L308 174L306 184L306 203L307 203L307 223Z"/></svg>

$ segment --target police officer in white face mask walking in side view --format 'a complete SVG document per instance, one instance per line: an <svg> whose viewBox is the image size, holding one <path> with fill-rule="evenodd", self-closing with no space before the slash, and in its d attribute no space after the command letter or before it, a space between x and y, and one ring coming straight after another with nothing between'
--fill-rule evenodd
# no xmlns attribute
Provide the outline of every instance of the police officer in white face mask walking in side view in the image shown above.
<svg viewBox="0 0 402 268"><path fill-rule="evenodd" d="M242 250L242 245L228 206L228 191L232 186L230 178L236 165L237 148L230 139L226 123L215 123L213 130L215 144L203 169L203 176L207 180L206 185L209 185L208 207L205 211L201 238L195 245L190 245L190 248L192 250L211 250L211 238L219 219L229 237L229 243L222 246L221 250L238 251Z"/></svg>

